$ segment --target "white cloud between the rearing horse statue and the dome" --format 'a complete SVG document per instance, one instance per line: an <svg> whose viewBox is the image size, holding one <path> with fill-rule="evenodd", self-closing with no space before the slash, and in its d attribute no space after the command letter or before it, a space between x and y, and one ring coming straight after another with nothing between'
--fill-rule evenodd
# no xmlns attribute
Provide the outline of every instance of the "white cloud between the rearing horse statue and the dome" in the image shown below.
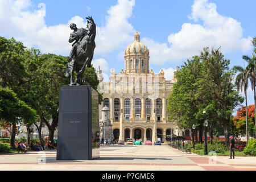
<svg viewBox="0 0 256 182"><path fill-rule="evenodd" d="M96 49L98 54L108 53L133 42L135 30L128 22L132 15L135 0L118 0L110 7L106 16L106 26L97 27Z"/></svg>

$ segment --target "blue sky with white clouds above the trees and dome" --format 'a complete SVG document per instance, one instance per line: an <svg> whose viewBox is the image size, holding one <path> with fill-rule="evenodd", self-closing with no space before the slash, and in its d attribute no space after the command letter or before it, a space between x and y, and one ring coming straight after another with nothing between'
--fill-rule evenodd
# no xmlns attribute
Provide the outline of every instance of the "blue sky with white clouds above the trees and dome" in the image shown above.
<svg viewBox="0 0 256 182"><path fill-rule="evenodd" d="M243 65L242 55L251 55L256 36L255 7L255 0L0 0L0 36L68 55L69 23L85 27L90 15L97 25L93 63L102 65L105 80L110 69L124 67L123 53L136 31L150 49L150 69L163 68L171 80L175 67L205 46L221 46L230 67Z"/></svg>

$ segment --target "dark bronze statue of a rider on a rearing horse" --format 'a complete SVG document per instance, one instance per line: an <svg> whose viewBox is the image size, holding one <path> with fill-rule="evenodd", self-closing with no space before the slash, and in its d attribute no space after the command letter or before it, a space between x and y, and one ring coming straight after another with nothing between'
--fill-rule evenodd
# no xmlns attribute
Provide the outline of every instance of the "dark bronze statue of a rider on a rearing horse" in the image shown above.
<svg viewBox="0 0 256 182"><path fill-rule="evenodd" d="M67 68L65 70L65 76L70 75L70 84L82 85L84 78L82 77L85 67L91 67L93 52L95 46L95 36L96 36L96 24L92 19L92 16L86 17L87 27L77 28L75 23L70 24L71 30L74 30L69 37L69 43L72 43L71 53L68 57ZM73 73L77 73L77 79L73 81Z"/></svg>

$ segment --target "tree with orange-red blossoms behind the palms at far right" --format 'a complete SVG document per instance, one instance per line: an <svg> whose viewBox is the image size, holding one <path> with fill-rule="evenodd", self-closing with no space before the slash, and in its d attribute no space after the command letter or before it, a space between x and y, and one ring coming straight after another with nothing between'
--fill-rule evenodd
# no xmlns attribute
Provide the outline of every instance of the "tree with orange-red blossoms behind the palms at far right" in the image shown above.
<svg viewBox="0 0 256 182"><path fill-rule="evenodd" d="M248 133L253 136L255 133L255 120L254 120L254 105L248 106ZM245 125L245 107L242 107L241 110L237 110L237 115L233 118L234 125L241 134L246 134L246 125Z"/></svg>

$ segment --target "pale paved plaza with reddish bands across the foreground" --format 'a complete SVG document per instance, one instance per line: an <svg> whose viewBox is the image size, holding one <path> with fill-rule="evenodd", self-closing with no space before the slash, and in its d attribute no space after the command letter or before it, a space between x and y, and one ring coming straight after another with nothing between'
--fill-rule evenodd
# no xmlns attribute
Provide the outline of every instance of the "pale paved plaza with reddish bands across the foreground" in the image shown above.
<svg viewBox="0 0 256 182"><path fill-rule="evenodd" d="M93 171L164 171L164 170L254 170L255 157L200 156L169 146L101 146L101 158L95 160L56 160L56 150L0 155L0 170L93 170ZM44 160L45 159L45 160ZM215 160L216 159L216 160Z"/></svg>

